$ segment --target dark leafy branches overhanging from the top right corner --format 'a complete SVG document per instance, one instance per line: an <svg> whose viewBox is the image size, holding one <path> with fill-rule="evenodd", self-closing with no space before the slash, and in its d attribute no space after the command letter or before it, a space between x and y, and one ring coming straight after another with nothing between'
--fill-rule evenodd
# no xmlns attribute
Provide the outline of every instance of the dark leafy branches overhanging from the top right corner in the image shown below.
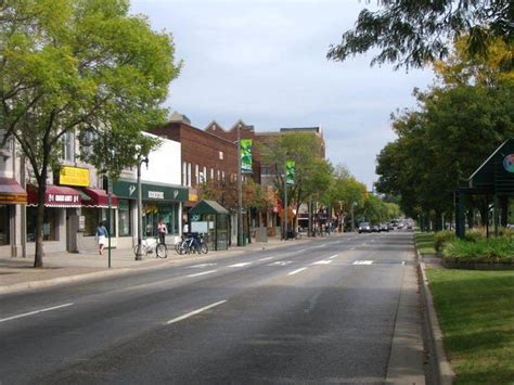
<svg viewBox="0 0 514 385"><path fill-rule="evenodd" d="M510 0L380 0L378 7L378 11L360 12L355 28L330 48L329 59L344 61L378 49L372 65L422 67L446 57L452 42L464 35L471 55L486 56L496 38L512 47L514 3Z"/></svg>

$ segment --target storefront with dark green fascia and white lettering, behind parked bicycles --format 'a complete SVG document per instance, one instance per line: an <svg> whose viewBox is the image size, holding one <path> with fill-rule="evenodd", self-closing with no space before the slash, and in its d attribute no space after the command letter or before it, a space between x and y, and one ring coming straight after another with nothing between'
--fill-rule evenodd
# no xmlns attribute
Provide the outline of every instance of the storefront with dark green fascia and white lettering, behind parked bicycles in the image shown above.
<svg viewBox="0 0 514 385"><path fill-rule="evenodd" d="M130 233L134 242L138 236L136 229L138 183L128 180L115 181L113 182L113 192L119 198L118 228L120 236L121 233ZM163 220L168 228L166 242L175 243L175 236L181 235L182 203L188 201L188 188L142 182L141 192L143 238L156 238L157 223Z"/></svg>

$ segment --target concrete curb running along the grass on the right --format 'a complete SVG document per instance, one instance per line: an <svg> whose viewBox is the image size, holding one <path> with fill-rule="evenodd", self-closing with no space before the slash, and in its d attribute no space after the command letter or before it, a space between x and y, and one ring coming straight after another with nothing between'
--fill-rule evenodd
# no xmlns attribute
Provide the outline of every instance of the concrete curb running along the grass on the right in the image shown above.
<svg viewBox="0 0 514 385"><path fill-rule="evenodd" d="M442 345L442 332L439 326L439 320L437 319L437 312L434 307L434 299L428 286L428 279L425 273L425 262L423 262L422 256L420 255L417 248L415 253L419 261L417 271L422 281L420 288L424 298L425 318L426 323L428 324L428 344L432 347L429 348L429 351L432 351L435 356L435 374L437 376L436 382L442 385L450 385L453 383L455 373L453 372L453 369L446 357L445 347Z"/></svg>

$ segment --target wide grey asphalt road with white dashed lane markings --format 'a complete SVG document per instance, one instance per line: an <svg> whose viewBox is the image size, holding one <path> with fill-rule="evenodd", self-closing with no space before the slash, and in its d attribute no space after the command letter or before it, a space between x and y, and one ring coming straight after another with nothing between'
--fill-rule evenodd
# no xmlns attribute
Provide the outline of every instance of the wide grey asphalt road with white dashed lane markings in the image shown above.
<svg viewBox="0 0 514 385"><path fill-rule="evenodd" d="M0 383L383 383L412 234L0 297Z"/></svg>

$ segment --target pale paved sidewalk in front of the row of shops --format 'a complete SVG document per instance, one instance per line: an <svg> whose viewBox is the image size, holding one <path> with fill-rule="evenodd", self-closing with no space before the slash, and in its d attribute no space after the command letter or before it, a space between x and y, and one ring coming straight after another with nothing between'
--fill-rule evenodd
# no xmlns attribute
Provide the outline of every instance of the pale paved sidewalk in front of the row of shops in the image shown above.
<svg viewBox="0 0 514 385"><path fill-rule="evenodd" d="M305 238L301 241L308 242ZM43 257L43 268L34 269L34 256L22 258L0 257L0 295L29 288L49 287L57 284L85 281L108 275L118 275L138 270L157 269L164 265L180 265L183 261L205 260L229 255L237 256L243 253L274 248L292 244L270 238L268 243L252 243L244 247L230 247L228 251L209 252L198 255L178 255L172 246L168 248L166 259L157 259L155 254L149 254L143 260L136 260L131 248L114 248L111 252L111 268L108 268L107 251L103 255L94 253L55 253Z"/></svg>

